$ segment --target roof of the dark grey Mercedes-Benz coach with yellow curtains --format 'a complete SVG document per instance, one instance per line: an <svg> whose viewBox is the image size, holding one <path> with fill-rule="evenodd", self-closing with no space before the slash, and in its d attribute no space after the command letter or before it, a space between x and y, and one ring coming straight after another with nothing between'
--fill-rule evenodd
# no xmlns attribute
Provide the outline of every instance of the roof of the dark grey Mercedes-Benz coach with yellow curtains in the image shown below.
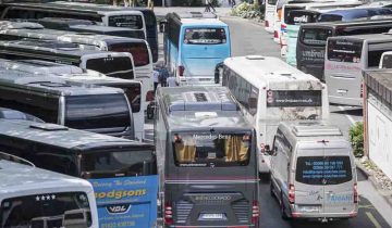
<svg viewBox="0 0 392 228"><path fill-rule="evenodd" d="M164 87L158 97L171 130L252 128L225 87Z"/></svg>

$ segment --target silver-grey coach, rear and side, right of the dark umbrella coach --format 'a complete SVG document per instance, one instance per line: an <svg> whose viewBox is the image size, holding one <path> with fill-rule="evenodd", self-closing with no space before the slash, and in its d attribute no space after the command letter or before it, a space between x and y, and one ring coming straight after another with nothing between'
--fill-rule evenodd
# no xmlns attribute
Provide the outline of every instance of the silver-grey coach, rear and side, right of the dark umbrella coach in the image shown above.
<svg viewBox="0 0 392 228"><path fill-rule="evenodd" d="M385 51L392 51L391 34L328 38L324 74L330 102L362 106L363 71L379 68Z"/></svg>

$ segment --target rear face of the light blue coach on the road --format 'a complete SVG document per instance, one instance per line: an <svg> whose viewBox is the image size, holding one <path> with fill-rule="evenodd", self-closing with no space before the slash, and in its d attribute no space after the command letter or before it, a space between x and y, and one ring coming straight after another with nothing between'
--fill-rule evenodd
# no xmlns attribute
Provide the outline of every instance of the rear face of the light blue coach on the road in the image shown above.
<svg viewBox="0 0 392 228"><path fill-rule="evenodd" d="M208 79L213 80L217 64L231 54L228 28L185 27L182 34L180 65L184 67L184 76L209 77Z"/></svg>

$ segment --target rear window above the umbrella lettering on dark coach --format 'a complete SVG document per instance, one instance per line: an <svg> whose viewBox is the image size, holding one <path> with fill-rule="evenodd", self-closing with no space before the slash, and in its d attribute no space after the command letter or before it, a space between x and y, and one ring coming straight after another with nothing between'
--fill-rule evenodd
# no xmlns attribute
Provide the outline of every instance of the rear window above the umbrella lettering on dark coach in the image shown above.
<svg viewBox="0 0 392 228"><path fill-rule="evenodd" d="M307 28L302 30L301 40L308 46L324 46L327 38L332 35L332 30L324 28Z"/></svg>

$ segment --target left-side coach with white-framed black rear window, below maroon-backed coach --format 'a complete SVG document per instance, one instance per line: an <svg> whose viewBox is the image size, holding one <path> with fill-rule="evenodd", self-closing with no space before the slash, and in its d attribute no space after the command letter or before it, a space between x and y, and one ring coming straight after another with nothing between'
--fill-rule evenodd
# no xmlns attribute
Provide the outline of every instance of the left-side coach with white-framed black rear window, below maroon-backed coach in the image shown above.
<svg viewBox="0 0 392 228"><path fill-rule="evenodd" d="M44 60L94 69L112 77L134 79L132 54L81 50L75 43L54 40L10 40L0 42L0 58L8 60Z"/></svg>

